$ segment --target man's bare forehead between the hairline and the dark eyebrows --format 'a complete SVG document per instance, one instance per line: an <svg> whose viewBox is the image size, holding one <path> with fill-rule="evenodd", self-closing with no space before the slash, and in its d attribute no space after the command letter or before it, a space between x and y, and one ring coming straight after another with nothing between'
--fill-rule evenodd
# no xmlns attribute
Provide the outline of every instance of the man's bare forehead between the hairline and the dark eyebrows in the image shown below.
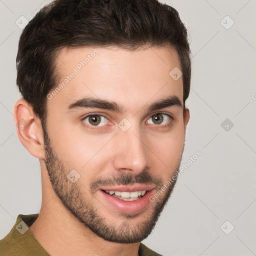
<svg viewBox="0 0 256 256"><path fill-rule="evenodd" d="M50 107L68 107L88 96L118 102L130 111L163 96L175 95L182 102L182 76L170 75L173 68L181 67L170 47L63 48L55 61L58 82L55 93L49 91L54 94Z"/></svg>

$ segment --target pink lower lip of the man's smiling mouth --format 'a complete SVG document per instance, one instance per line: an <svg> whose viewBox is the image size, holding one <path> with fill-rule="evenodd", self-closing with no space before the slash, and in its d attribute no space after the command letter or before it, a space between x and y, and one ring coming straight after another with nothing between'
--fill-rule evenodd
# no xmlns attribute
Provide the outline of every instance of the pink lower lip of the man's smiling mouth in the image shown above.
<svg viewBox="0 0 256 256"><path fill-rule="evenodd" d="M124 201L110 194L107 194L102 190L98 191L100 193L100 197L103 197L102 201L107 201L115 210L126 214L137 213L146 208L150 202L149 197L153 194L153 189L151 189L146 191L146 193L139 199L133 201Z"/></svg>

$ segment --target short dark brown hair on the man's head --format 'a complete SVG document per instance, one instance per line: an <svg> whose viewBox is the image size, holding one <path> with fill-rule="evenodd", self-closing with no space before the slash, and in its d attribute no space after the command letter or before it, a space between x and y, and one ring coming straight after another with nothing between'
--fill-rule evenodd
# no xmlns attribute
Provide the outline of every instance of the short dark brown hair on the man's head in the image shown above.
<svg viewBox="0 0 256 256"><path fill-rule="evenodd" d="M187 30L178 12L157 0L55 0L21 33L16 57L17 85L42 120L46 95L56 86L55 56L63 47L109 46L136 49L170 45L178 53L183 104L190 89Z"/></svg>

